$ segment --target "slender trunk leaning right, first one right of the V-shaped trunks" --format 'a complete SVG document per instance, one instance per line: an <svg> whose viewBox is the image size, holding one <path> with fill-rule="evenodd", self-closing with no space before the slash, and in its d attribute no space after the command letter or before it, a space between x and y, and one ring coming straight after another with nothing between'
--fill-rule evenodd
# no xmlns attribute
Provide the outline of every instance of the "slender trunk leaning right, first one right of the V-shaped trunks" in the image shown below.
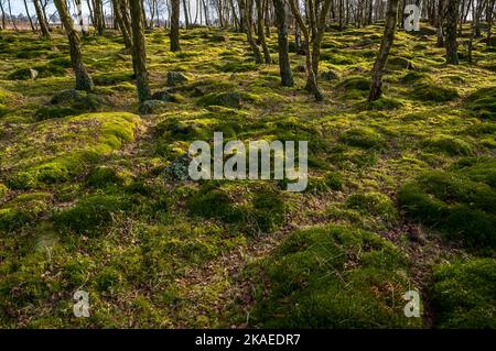
<svg viewBox="0 0 496 351"><path fill-rule="evenodd" d="M368 101L374 101L382 95L382 74L388 59L389 51L395 41L395 30L398 13L398 0L389 0L386 11L386 24L384 29L382 42L380 43L379 54L374 64L373 81ZM455 24L456 25L456 24Z"/></svg>

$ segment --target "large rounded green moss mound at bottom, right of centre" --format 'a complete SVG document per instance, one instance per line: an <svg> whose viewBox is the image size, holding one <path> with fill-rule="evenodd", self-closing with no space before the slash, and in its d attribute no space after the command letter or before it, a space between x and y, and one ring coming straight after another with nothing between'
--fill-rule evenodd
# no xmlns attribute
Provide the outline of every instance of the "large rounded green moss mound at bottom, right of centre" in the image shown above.
<svg viewBox="0 0 496 351"><path fill-rule="evenodd" d="M277 252L249 268L266 288L251 323L262 328L420 327L403 315L411 289L406 256L379 235L351 227L322 227L290 235ZM263 283L261 283L263 284Z"/></svg>

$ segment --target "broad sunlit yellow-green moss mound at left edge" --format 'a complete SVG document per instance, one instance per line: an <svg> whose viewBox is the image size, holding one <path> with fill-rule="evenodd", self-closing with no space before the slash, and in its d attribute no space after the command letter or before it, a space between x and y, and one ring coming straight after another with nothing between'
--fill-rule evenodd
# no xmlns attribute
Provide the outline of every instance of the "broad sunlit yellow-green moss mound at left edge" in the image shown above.
<svg viewBox="0 0 496 351"><path fill-rule="evenodd" d="M0 164L17 165L8 175L8 184L14 189L66 182L122 142L132 141L139 123L138 116L127 112L43 121L17 135L12 143L21 152L6 153Z"/></svg>

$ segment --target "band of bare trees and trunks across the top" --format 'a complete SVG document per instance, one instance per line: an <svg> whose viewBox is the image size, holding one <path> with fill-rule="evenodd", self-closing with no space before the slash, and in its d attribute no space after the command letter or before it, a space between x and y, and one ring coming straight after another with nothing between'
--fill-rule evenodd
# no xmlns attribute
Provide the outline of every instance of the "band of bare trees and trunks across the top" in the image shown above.
<svg viewBox="0 0 496 351"><path fill-rule="evenodd" d="M369 100L381 96L382 74L395 32L402 28L406 7L420 9L421 18L435 29L436 44L445 47L446 63L459 64L457 45L462 25L470 23L468 62L472 62L472 43L485 32L486 44L492 37L496 0L23 0L25 15L33 31L50 39L55 14L47 14L52 3L57 9L60 24L65 29L71 44L71 58L76 74L76 88L90 90L93 83L83 65L79 33L74 18L83 21L82 7L89 10L89 22L95 35L107 30L119 30L126 48L132 54L134 76L140 102L151 97L144 47L144 31L164 26L170 33L170 50L181 51L181 29L205 25L234 30L246 35L257 64L273 64L274 57L267 45L276 29L278 35L278 64L281 84L292 86L289 61L290 34L295 52L305 57L306 90L316 100L323 95L319 89L321 44L326 31L344 31L370 24L384 24L384 35L373 69ZM34 13L30 13L31 2ZM1 29L8 22L17 30L19 17L12 14L11 0L0 0ZM83 23L78 23L83 24ZM89 35L84 25L80 34Z"/></svg>

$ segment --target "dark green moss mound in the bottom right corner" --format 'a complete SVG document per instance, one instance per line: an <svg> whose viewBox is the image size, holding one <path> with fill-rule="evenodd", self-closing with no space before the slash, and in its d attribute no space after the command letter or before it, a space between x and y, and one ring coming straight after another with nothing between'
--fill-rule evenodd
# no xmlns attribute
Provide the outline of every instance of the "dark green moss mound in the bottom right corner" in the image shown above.
<svg viewBox="0 0 496 351"><path fill-rule="evenodd" d="M431 306L438 328L496 328L496 260L439 265Z"/></svg>

